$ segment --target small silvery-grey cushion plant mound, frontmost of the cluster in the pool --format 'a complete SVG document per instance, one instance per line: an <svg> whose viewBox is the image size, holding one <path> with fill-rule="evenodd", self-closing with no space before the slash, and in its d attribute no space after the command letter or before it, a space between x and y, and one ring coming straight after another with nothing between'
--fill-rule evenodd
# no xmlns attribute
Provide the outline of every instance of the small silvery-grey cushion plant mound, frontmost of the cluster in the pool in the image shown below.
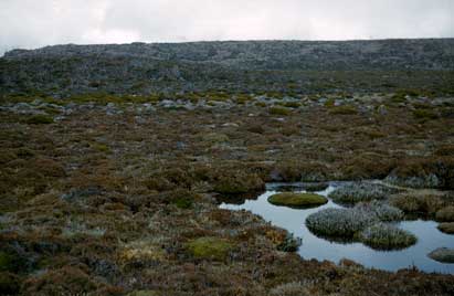
<svg viewBox="0 0 454 296"><path fill-rule="evenodd" d="M363 244L378 250L404 249L418 241L412 233L386 223L377 223L366 228L359 233L358 239Z"/></svg>

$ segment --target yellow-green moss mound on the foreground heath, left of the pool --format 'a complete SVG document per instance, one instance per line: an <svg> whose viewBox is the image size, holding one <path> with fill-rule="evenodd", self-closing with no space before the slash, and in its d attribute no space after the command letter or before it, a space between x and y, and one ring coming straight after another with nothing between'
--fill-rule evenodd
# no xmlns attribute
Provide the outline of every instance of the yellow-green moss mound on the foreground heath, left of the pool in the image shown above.
<svg viewBox="0 0 454 296"><path fill-rule="evenodd" d="M188 250L197 258L224 260L233 245L223 239L199 237L188 243Z"/></svg>

